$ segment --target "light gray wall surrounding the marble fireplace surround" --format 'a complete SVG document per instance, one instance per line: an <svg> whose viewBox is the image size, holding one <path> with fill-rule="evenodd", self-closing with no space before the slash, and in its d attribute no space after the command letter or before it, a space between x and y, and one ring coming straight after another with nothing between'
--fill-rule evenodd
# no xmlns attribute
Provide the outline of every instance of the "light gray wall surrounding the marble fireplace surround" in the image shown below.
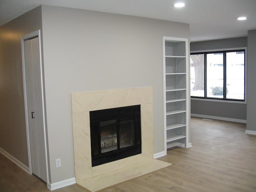
<svg viewBox="0 0 256 192"><path fill-rule="evenodd" d="M53 6L42 6L42 24L51 182L74 177L72 92L152 86L154 153L162 152L162 36L189 38L189 25Z"/></svg>

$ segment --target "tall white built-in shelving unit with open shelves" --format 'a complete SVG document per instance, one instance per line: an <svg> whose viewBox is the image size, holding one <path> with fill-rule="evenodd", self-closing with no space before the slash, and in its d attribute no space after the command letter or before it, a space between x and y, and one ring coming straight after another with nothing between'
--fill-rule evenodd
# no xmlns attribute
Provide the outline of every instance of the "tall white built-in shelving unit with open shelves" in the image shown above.
<svg viewBox="0 0 256 192"><path fill-rule="evenodd" d="M189 143L188 39L163 37L165 152Z"/></svg>

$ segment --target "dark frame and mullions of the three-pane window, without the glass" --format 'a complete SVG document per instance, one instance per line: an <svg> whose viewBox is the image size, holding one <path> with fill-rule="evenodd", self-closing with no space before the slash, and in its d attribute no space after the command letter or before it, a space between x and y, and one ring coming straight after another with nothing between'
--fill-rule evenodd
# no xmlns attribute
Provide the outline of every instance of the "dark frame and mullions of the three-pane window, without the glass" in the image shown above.
<svg viewBox="0 0 256 192"><path fill-rule="evenodd" d="M226 98L226 53L236 52L240 54L244 52L244 99L230 99ZM239 52L239 53L238 53ZM223 98L207 97L207 54L221 54L223 53ZM205 51L205 52L192 52L190 55L204 54L204 96L190 96L191 98L210 99L210 100L223 100L223 101L246 101L246 49L235 50L218 50L218 51Z"/></svg>

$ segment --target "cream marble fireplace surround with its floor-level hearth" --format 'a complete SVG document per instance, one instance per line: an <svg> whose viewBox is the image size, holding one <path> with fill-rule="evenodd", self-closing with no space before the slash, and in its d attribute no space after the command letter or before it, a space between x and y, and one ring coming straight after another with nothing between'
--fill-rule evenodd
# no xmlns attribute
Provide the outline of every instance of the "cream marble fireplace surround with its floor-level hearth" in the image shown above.
<svg viewBox="0 0 256 192"><path fill-rule="evenodd" d="M76 182L94 192L170 166L153 158L152 87L72 93ZM90 111L140 105L142 153L92 167Z"/></svg>

